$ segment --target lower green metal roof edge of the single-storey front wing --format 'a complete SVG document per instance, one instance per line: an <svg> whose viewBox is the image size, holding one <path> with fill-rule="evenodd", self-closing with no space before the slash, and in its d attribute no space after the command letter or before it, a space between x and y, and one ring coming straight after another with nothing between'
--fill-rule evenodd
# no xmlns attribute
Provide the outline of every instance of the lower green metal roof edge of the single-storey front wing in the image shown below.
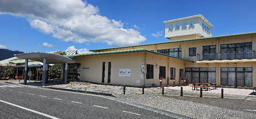
<svg viewBox="0 0 256 119"><path fill-rule="evenodd" d="M115 51L106 51L106 52L95 52L95 53L84 53L84 54L71 54L71 55L64 55L64 56L71 58L71 57L78 57L78 56L90 56L90 55L101 55L101 54L116 54L116 53L133 53L133 52L149 52L149 53L160 54L160 55L164 55L164 56L167 56L167 57L176 58L176 59L180 59L180 60L184 60L184 61L193 62L191 60L186 60L186 59L182 59L182 58L178 58L178 57L173 57L173 56L170 56L170 55L166 55L166 54L162 54L162 53L157 53L157 52L146 50L146 49L142 49L142 48L128 49L128 50L115 50Z"/></svg>

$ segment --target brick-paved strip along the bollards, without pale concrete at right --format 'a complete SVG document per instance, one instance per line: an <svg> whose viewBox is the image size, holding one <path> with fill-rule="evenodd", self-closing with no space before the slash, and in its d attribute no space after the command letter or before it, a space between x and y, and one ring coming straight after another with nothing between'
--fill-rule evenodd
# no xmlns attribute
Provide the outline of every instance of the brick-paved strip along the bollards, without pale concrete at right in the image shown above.
<svg viewBox="0 0 256 119"><path fill-rule="evenodd" d="M22 81L23 82L23 81ZM19 81L12 81L12 83L19 83ZM21 83L22 84L22 83ZM41 87L40 81L28 81L27 85ZM83 85L83 84L63 84L63 81L58 80L50 80L46 83L44 88L54 88L54 89L68 89L72 91L86 91L93 92L93 93L100 93L100 94L123 94L123 87L122 86L110 86L110 85L98 85L98 84L90 84ZM177 87L178 88L178 87ZM220 88L218 90L221 90ZM135 88L135 87L126 87L125 94L142 94L142 88ZM144 94L162 94L162 88L159 87L152 87L152 88L145 88ZM164 88L165 95L180 95L180 90L178 89L171 89L171 88ZM192 90L183 90L184 96L199 96L199 91L192 91ZM208 97L221 97L220 93L211 93L211 91L203 91L203 96ZM224 94L226 98L241 98L244 99L247 96L245 95L234 95L234 94Z"/></svg>

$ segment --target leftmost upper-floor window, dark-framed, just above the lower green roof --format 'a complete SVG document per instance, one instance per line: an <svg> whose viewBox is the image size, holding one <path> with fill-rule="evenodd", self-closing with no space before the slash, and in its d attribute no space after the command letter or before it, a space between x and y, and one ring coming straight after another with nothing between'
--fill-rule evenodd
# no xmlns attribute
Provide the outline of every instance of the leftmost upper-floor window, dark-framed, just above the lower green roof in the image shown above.
<svg viewBox="0 0 256 119"><path fill-rule="evenodd" d="M173 57L181 58L181 48L163 49L163 50L157 50L157 52L170 55Z"/></svg>

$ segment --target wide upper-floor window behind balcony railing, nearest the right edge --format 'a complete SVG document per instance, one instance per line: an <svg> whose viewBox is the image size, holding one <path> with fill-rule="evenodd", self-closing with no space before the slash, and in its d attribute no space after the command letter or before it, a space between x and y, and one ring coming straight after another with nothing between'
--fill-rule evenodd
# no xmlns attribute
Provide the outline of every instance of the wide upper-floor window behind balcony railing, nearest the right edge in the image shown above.
<svg viewBox="0 0 256 119"><path fill-rule="evenodd" d="M252 42L220 45L221 59L252 58L253 52L239 52L239 51L252 51ZM227 52L236 52L236 53L227 53Z"/></svg>

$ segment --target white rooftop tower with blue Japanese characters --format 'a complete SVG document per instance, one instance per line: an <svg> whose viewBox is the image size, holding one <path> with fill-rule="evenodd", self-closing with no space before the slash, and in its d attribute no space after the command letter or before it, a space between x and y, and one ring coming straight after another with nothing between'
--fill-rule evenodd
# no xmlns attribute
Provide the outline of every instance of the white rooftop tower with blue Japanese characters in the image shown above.
<svg viewBox="0 0 256 119"><path fill-rule="evenodd" d="M169 40L195 39L212 36L214 27L203 15L164 21L165 36Z"/></svg>

